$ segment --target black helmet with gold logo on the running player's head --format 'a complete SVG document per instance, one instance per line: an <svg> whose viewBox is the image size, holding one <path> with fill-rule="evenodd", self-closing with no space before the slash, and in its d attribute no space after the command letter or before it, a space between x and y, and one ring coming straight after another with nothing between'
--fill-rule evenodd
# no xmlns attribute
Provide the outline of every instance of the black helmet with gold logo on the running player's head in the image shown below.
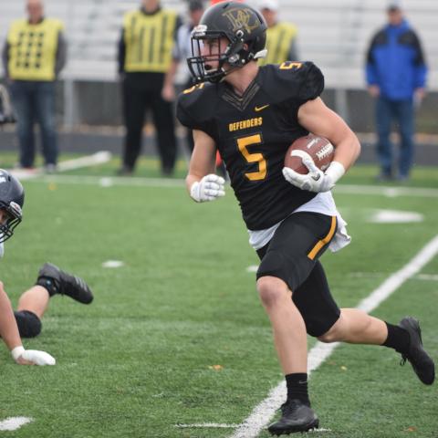
<svg viewBox="0 0 438 438"><path fill-rule="evenodd" d="M225 75L252 59L266 56L265 18L253 7L237 2L223 2L209 7L192 32L192 57L187 64L196 83L219 82ZM221 47L221 38L228 44ZM218 53L201 53L203 44L216 40ZM217 68L210 63L217 62ZM224 64L228 64L226 70Z"/></svg>

